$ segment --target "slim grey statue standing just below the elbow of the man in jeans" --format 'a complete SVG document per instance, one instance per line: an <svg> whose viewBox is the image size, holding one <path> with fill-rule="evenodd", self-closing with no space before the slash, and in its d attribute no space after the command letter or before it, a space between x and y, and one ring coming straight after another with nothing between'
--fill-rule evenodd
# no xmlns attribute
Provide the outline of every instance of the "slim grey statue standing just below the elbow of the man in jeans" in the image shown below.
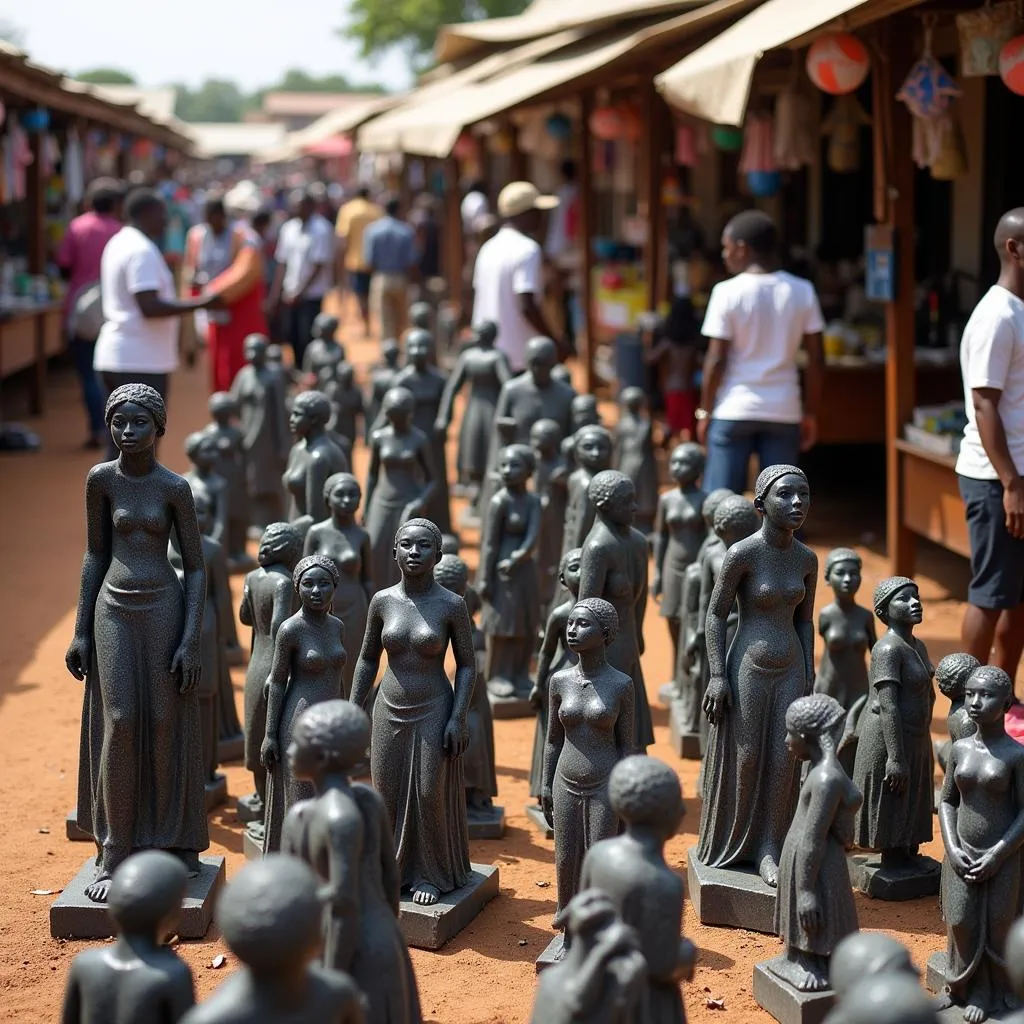
<svg viewBox="0 0 1024 1024"><path fill-rule="evenodd" d="M654 574L650 595L662 602L662 617L672 640L672 664L679 665L679 637L683 612L683 577L696 561L708 536L700 506L703 494L698 481L703 473L705 454L699 444L677 444L669 457L669 475L676 486L657 500L654 518ZM673 679L678 692L678 672Z"/></svg>

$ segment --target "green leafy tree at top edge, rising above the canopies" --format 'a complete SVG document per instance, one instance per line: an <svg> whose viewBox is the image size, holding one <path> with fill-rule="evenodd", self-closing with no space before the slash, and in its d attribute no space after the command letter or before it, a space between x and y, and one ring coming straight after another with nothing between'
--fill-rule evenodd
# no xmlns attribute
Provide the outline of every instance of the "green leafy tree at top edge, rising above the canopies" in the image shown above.
<svg viewBox="0 0 1024 1024"><path fill-rule="evenodd" d="M442 25L521 14L526 6L527 0L352 0L341 34L359 44L364 57L398 46L423 67Z"/></svg>

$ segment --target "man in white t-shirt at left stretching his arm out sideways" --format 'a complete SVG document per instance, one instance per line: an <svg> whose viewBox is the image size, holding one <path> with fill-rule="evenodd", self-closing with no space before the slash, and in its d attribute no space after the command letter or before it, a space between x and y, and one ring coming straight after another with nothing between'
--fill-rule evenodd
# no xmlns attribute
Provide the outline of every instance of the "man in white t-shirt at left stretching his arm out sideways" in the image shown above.
<svg viewBox="0 0 1024 1024"><path fill-rule="evenodd" d="M177 317L219 304L216 295L175 296L174 275L158 248L167 228L164 201L136 188L125 202L127 223L103 249L99 264L103 326L93 368L110 394L122 384L148 384L166 399L178 368ZM111 458L116 452L109 450Z"/></svg>

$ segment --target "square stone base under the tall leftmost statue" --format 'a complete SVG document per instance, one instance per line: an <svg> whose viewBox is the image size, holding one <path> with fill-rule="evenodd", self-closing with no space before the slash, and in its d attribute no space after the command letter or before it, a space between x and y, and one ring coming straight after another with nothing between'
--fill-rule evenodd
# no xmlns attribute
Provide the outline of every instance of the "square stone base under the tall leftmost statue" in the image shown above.
<svg viewBox="0 0 1024 1024"><path fill-rule="evenodd" d="M105 939L115 934L105 903L93 903L85 895L96 873L90 857L50 905L50 935L54 939ZM188 880L181 919L176 932L182 939L202 939L213 921L217 896L224 885L223 857L200 857L200 871Z"/></svg>

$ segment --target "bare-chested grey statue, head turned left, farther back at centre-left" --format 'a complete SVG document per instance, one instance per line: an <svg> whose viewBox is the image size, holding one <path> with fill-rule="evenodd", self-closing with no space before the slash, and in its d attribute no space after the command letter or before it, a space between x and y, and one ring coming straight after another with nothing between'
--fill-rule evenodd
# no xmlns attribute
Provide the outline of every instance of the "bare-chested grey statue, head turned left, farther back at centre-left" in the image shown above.
<svg viewBox="0 0 1024 1024"><path fill-rule="evenodd" d="M291 497L288 518L301 534L321 517L327 478L348 472L347 456L328 433L330 419L331 400L323 391L303 391L292 402L289 423L295 443L282 482Z"/></svg>

